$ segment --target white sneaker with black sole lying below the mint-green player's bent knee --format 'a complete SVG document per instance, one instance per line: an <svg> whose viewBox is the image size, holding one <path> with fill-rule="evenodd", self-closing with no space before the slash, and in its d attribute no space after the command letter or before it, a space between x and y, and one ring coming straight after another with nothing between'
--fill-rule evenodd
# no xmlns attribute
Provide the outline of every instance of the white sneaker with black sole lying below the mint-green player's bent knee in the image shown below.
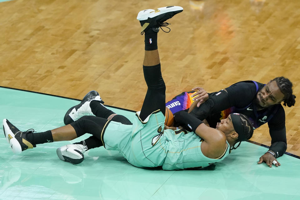
<svg viewBox="0 0 300 200"><path fill-rule="evenodd" d="M88 150L87 146L82 144L67 144L56 149L58 158L62 161L79 164L83 161L83 153Z"/></svg>

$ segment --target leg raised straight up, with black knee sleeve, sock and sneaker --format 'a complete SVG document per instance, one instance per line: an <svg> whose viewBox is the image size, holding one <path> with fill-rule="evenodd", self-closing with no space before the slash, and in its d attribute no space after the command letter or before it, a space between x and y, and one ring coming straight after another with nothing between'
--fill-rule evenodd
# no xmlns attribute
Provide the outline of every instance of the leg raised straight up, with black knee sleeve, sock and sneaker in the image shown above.
<svg viewBox="0 0 300 200"><path fill-rule="evenodd" d="M161 73L157 46L157 33L160 27L168 25L168 23L165 22L167 19L170 19L182 11L182 7L168 6L158 8L156 10L142 10L138 13L137 19L140 21L142 26L141 34L145 33L143 72L148 86L141 113L139 115L142 121L158 109L163 113L163 115L165 115L166 86Z"/></svg>

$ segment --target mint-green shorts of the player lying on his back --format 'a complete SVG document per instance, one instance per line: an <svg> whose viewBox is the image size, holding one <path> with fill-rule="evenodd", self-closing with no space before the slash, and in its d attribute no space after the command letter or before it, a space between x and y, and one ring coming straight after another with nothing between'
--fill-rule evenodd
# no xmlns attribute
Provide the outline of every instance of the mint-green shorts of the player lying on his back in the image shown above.
<svg viewBox="0 0 300 200"><path fill-rule="evenodd" d="M139 113L132 125L109 121L101 134L104 147L118 150L136 167L162 166L168 149L163 130L165 116L157 110L142 122Z"/></svg>

